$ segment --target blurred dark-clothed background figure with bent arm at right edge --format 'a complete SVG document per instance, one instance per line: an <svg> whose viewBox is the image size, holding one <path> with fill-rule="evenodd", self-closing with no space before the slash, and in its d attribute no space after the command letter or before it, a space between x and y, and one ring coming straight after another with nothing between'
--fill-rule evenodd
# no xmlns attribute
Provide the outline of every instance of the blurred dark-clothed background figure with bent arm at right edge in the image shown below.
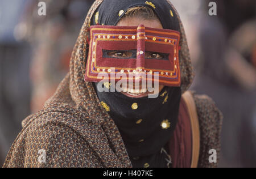
<svg viewBox="0 0 256 179"><path fill-rule="evenodd" d="M207 8L201 18L193 89L213 97L224 114L220 167L256 167L256 1L215 2L217 16Z"/></svg>

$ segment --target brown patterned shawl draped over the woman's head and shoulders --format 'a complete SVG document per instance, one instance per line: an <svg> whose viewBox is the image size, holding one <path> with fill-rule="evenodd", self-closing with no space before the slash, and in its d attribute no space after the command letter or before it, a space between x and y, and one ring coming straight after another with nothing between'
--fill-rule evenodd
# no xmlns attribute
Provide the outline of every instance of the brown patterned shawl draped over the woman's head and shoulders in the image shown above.
<svg viewBox="0 0 256 179"><path fill-rule="evenodd" d="M117 126L102 108L92 83L84 82L89 22L102 1L94 2L85 19L73 49L69 74L44 109L22 122L23 130L3 167L132 167ZM193 73L181 21L180 29L181 88L185 92ZM208 151L220 152L221 113L209 97L194 98L201 133L198 167L216 167L209 163ZM46 152L46 163L39 160L42 150Z"/></svg>

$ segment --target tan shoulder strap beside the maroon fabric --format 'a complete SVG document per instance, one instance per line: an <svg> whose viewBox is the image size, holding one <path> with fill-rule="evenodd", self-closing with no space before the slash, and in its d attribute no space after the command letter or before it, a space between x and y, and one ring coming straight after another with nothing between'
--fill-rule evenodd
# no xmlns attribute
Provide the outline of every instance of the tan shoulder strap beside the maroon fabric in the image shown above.
<svg viewBox="0 0 256 179"><path fill-rule="evenodd" d="M193 99L191 91L186 91L182 95L185 104L187 105L188 114L191 120L191 129L192 129L192 159L191 159L191 168L197 168L199 161L199 152L200 152L200 128L199 120L197 116L196 104Z"/></svg>

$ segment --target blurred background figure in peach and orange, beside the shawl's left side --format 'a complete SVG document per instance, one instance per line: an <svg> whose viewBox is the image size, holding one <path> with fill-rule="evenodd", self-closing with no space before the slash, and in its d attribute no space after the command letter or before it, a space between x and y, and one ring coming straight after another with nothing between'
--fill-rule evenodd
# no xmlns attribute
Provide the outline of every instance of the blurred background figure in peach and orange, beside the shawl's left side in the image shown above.
<svg viewBox="0 0 256 179"><path fill-rule="evenodd" d="M39 1L38 1L39 2ZM81 25L93 0L47 0L47 15L39 16L38 2L27 14L33 49L31 110L42 109L69 71L69 59Z"/></svg>

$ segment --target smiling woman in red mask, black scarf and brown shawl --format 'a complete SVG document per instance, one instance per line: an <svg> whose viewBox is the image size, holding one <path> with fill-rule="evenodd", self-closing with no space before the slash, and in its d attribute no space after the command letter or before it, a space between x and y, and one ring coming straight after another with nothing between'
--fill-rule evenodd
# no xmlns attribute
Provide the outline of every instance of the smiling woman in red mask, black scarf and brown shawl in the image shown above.
<svg viewBox="0 0 256 179"><path fill-rule="evenodd" d="M102 35L108 31L119 35ZM166 70L151 80L159 95L134 86L100 92L95 74L117 72L102 67L110 64L122 74L143 70L147 79ZM184 29L168 1L96 1L69 74L44 109L23 121L4 167L216 167L208 159L209 150L220 151L221 114L209 97L185 93L192 78Z"/></svg>

